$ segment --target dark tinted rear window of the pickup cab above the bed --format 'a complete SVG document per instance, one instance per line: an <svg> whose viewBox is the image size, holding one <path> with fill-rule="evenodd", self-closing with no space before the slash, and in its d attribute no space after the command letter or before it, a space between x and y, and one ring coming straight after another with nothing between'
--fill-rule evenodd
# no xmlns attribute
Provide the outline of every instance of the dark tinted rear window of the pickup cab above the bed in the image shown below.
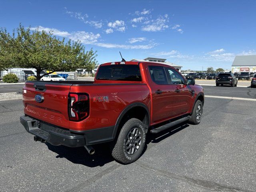
<svg viewBox="0 0 256 192"><path fill-rule="evenodd" d="M106 65L100 66L96 80L141 81L138 65Z"/></svg>

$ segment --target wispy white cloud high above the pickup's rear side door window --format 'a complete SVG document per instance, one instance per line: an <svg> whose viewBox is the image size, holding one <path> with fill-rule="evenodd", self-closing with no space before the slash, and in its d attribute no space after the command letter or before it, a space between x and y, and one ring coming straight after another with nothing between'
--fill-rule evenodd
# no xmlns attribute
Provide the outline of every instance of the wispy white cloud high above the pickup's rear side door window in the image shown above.
<svg viewBox="0 0 256 192"><path fill-rule="evenodd" d="M147 25L142 26L142 31L151 31L151 32L156 32L156 31L162 31L168 28L169 26L167 23L169 22L169 17L167 14L164 16L158 16L156 20L150 20L146 22Z"/></svg>

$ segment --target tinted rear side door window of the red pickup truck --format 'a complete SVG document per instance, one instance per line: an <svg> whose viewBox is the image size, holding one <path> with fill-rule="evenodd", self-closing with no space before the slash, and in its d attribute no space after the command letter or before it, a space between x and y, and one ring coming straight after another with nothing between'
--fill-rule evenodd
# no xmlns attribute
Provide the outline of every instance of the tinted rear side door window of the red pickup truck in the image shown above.
<svg viewBox="0 0 256 192"><path fill-rule="evenodd" d="M148 66L152 81L159 85L167 85L167 77L164 67L162 66Z"/></svg>

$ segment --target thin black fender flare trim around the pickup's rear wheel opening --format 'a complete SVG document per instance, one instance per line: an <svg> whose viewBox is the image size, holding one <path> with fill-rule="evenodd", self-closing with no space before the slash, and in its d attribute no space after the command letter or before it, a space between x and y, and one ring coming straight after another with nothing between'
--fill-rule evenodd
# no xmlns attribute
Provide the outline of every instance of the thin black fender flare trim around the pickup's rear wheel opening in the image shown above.
<svg viewBox="0 0 256 192"><path fill-rule="evenodd" d="M114 132L113 132L113 135L112 135L113 139L116 137L116 132L118 130L118 126L119 126L122 118L124 117L126 112L128 112L130 109L132 109L134 107L143 107L146 110L147 116L148 116L148 127L150 126L150 112L148 110L148 107L144 103L140 103L140 102L132 103L132 104L128 105L126 108L124 108L124 110L118 116L118 118L116 120L115 127L114 127ZM146 127L146 131L147 131L148 127Z"/></svg>

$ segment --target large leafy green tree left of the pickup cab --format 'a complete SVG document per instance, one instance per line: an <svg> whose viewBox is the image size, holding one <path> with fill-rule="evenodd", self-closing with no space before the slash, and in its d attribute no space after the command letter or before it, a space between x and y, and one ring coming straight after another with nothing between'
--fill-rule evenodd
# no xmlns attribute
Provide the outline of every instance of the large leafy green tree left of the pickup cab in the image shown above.
<svg viewBox="0 0 256 192"><path fill-rule="evenodd" d="M38 28L30 30L20 24L12 34L0 29L0 68L35 68L36 80L57 71L92 70L98 64L96 56L92 49L85 51L80 41L60 40ZM50 72L40 74L42 70Z"/></svg>

